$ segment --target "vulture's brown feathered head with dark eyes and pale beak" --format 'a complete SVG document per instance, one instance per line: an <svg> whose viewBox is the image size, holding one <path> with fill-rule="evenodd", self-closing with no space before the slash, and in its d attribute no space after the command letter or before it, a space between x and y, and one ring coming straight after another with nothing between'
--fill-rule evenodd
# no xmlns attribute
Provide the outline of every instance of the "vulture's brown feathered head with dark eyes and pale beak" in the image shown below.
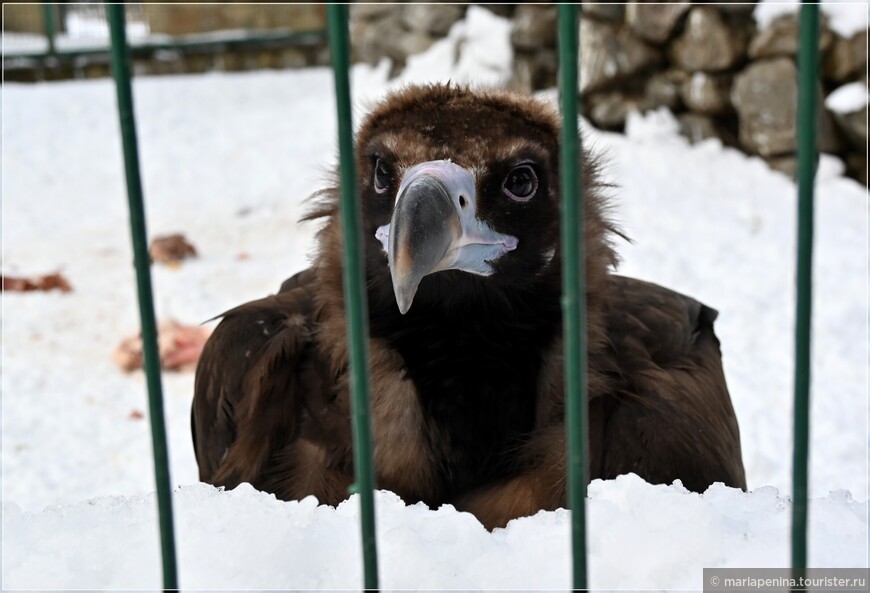
<svg viewBox="0 0 870 593"><path fill-rule="evenodd" d="M373 318L558 299L560 128L551 105L454 85L406 88L366 117L356 167ZM589 159L584 182L587 267L602 280L614 229ZM333 192L311 216L333 215L327 256L340 253L336 204Z"/></svg>

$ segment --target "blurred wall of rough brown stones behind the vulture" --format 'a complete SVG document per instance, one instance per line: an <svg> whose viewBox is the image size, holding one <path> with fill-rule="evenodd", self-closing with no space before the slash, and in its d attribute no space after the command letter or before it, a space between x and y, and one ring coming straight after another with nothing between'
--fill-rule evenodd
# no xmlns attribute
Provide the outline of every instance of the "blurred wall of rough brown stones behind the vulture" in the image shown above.
<svg viewBox="0 0 870 593"><path fill-rule="evenodd" d="M511 86L521 92L556 85L556 8L487 5L513 20ZM696 142L718 137L792 174L795 166L796 15L757 30L752 4L608 4L584 2L580 24L583 114L621 130L631 110L672 110ZM427 49L464 15L461 5L358 5L351 8L356 57L387 57L395 71ZM824 98L867 78L867 32L843 38L822 25L819 143L867 183L866 107L833 114Z"/></svg>

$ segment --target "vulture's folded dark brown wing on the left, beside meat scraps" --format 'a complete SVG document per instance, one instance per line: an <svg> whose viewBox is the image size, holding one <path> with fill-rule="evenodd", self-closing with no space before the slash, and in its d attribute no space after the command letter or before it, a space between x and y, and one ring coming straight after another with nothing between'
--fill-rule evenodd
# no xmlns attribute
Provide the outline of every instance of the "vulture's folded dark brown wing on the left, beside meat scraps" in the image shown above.
<svg viewBox="0 0 870 593"><path fill-rule="evenodd" d="M256 482L298 433L305 397L298 376L312 342L308 272L282 289L224 313L203 349L191 413L203 481Z"/></svg>

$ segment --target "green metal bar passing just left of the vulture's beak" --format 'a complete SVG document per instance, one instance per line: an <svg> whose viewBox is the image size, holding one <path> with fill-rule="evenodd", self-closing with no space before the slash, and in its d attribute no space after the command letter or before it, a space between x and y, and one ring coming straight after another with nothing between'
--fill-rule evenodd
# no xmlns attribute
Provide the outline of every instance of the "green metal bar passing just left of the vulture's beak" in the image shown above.
<svg viewBox="0 0 870 593"><path fill-rule="evenodd" d="M341 158L341 225L344 234L344 298L350 349L350 394L353 407L355 490L360 497L364 582L367 590L378 588L378 557L375 542L374 476L371 421L369 414L368 303L365 292L364 247L360 230L351 126L347 5L327 6L329 47L335 73L338 107L338 147Z"/></svg>

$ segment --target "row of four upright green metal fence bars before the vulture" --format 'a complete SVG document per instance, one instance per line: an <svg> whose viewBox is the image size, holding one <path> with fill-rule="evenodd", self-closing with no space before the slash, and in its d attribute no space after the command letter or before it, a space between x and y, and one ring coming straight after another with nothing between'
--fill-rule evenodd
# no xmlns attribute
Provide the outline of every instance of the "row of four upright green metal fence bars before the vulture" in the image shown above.
<svg viewBox="0 0 870 593"><path fill-rule="evenodd" d="M330 47L333 56L338 105L341 164L341 220L344 241L344 290L347 303L351 396L353 407L354 461L357 468L354 489L359 493L364 561L363 588L378 589L377 548L375 541L374 477L369 421L368 315L364 290L364 270L359 204L353 158L350 84L348 78L348 8L344 4L328 7ZM130 221L135 254L139 307L144 341L150 418L154 449L160 533L163 559L163 586L178 588L172 504L166 435L157 355L156 328L147 257L147 234L139 178L136 127L130 84L130 49L126 41L122 5L108 6L112 40L112 65L117 85L118 108L124 145ZM577 130L577 48L578 6L560 5L559 59L562 105L562 152L564 163L579 162ZM813 185L817 151L816 103L818 79L818 5L805 3L801 9L798 105L798 266L797 323L795 335L795 434L794 496L792 506L792 570L796 576L806 569L807 461L809 433L810 318L812 288ZM585 380L585 291L582 220L581 171L562 167L562 245L564 257L562 310L565 319L566 398L569 459L569 503L572 509L573 587L585 589L586 571L586 380Z"/></svg>

